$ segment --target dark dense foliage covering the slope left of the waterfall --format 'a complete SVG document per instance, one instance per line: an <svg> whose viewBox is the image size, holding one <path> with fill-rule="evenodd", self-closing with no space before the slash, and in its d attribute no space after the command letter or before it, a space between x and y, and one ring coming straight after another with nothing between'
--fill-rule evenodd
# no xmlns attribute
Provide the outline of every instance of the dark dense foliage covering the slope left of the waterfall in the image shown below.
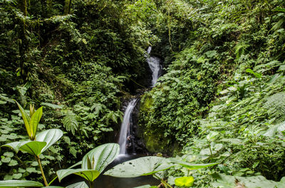
<svg viewBox="0 0 285 188"><path fill-rule="evenodd" d="M11 99L45 106L38 129L66 131L41 156L53 176L95 145L115 141L108 133L118 130L121 99L138 88L144 49L156 39L131 1L21 2L0 1L0 144L26 138ZM31 161L3 148L1 178L40 173Z"/></svg>

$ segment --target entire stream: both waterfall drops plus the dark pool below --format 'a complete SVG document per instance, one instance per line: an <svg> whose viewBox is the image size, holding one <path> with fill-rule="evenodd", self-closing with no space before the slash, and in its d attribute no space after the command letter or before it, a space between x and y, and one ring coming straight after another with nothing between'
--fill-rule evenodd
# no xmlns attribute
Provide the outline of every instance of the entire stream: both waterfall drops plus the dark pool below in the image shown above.
<svg viewBox="0 0 285 188"><path fill-rule="evenodd" d="M150 54L151 47L147 49L147 53ZM160 73L162 70L162 66L160 65L162 60L158 57L153 57L146 55L147 63L152 72L152 83L150 87L154 87L158 77L160 77ZM125 109L125 114L123 117L123 123L120 128L120 155L115 159L108 167L113 167L114 165L118 165L122 162L132 160L137 157L142 157L144 155L138 155L135 152L135 149L138 149L138 143L135 143L135 136L133 126L135 125L135 116L133 116L135 106L138 103L139 96L135 99L131 99L128 102L128 106ZM134 121L134 122L133 122ZM136 148L134 145L136 144ZM138 150L139 151L139 150ZM128 155L129 153L135 155ZM139 153L139 152L138 152ZM95 181L95 187L105 187L105 188L131 188L138 187L144 184L159 184L159 181L151 176L144 177L133 177L133 178L118 178L118 177L109 177L109 176L100 176Z"/></svg>

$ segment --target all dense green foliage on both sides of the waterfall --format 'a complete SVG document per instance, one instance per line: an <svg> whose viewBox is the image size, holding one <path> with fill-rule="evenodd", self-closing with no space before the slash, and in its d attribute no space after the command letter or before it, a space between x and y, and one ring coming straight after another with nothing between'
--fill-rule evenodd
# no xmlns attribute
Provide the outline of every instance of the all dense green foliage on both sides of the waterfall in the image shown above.
<svg viewBox="0 0 285 188"><path fill-rule="evenodd" d="M150 152L219 162L192 171L195 187L217 187L217 172L285 176L284 1L0 0L0 19L0 144L28 138L12 99L44 106L38 131L64 131L38 155L48 179L115 141L122 100L147 86L148 45L165 59L140 104ZM0 155L1 179L41 174L33 157Z"/></svg>

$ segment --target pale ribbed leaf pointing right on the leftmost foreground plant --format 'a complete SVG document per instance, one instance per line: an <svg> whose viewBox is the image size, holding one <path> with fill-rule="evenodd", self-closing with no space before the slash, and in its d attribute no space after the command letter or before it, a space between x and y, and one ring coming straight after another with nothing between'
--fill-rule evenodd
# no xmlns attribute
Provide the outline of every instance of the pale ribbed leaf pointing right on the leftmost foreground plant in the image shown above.
<svg viewBox="0 0 285 188"><path fill-rule="evenodd" d="M43 153L45 150L47 150L53 143L56 143L59 138L63 136L63 131L61 131L58 128L48 129L46 131L42 131L41 133L38 133L36 135L36 140L40 142L46 142L46 146L41 150L41 153Z"/></svg>

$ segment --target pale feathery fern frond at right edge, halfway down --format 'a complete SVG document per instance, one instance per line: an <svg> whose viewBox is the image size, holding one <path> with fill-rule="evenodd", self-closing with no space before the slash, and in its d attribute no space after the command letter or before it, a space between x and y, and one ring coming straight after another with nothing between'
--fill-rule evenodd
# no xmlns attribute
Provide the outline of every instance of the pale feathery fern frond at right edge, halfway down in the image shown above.
<svg viewBox="0 0 285 188"><path fill-rule="evenodd" d="M264 107L268 110L268 114L271 118L284 121L285 116L285 92L277 93L269 96Z"/></svg>

